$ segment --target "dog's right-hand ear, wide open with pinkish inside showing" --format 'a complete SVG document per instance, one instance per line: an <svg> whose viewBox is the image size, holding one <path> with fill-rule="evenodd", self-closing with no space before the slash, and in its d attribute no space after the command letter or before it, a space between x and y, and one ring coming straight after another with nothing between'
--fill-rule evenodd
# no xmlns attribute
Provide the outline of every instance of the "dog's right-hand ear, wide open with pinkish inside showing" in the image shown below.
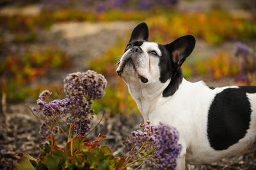
<svg viewBox="0 0 256 170"><path fill-rule="evenodd" d="M195 44L195 36L185 35L164 46L170 52L173 62L176 63L178 66L181 66L186 58L193 51Z"/></svg>

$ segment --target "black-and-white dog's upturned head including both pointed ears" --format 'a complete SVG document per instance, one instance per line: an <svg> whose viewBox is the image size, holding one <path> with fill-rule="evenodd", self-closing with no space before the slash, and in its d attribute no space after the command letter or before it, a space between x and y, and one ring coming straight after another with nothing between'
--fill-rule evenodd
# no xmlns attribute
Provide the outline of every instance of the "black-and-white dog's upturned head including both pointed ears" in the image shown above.
<svg viewBox="0 0 256 170"><path fill-rule="evenodd" d="M116 72L128 86L164 87L163 97L168 97L177 90L177 82L182 81L180 66L194 47L192 35L181 36L166 45L148 42L148 27L142 22L132 31Z"/></svg>

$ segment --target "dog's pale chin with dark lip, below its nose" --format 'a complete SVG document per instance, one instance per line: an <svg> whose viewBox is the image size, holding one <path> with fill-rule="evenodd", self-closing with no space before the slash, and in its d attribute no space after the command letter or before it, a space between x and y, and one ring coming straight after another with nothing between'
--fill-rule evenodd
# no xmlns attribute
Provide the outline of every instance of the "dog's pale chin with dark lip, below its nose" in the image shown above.
<svg viewBox="0 0 256 170"><path fill-rule="evenodd" d="M136 66L132 62L132 59L129 59L124 63L124 66L122 70L116 71L118 73L118 76L121 77L122 79L125 79L125 77L138 77L138 79L143 82L147 83L148 79L144 77L143 75L140 75L137 71Z"/></svg>

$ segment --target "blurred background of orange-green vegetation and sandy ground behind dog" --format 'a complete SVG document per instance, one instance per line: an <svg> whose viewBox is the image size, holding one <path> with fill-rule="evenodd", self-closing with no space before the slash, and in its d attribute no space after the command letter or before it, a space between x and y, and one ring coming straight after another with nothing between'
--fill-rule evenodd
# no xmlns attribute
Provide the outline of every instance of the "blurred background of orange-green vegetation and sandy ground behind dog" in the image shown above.
<svg viewBox="0 0 256 170"><path fill-rule="evenodd" d="M142 21L151 42L195 35L195 50L182 66L189 81L204 80L214 87L256 85L255 0L1 0L0 118L5 131L0 134L0 159L9 161L6 167L13 154L29 147L33 151L40 141L33 138L36 131L32 139L22 138L26 144L15 143L13 133L32 133L36 127L26 105L35 105L44 89L65 97L68 73L92 69L106 77L106 95L93 104L96 113L106 112L111 122L120 121L120 115L138 115L115 70L132 29ZM136 123L143 121L136 118ZM19 122L30 124L23 129ZM252 153L233 163L243 168L255 161Z"/></svg>

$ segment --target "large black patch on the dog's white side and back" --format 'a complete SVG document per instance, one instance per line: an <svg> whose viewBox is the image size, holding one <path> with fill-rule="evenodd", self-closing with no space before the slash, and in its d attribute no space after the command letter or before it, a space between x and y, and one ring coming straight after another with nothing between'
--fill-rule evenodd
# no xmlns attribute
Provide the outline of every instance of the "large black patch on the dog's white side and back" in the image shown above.
<svg viewBox="0 0 256 170"><path fill-rule="evenodd" d="M246 134L252 113L246 93L256 93L256 87L228 88L214 97L207 123L208 139L214 150L226 150Z"/></svg>

